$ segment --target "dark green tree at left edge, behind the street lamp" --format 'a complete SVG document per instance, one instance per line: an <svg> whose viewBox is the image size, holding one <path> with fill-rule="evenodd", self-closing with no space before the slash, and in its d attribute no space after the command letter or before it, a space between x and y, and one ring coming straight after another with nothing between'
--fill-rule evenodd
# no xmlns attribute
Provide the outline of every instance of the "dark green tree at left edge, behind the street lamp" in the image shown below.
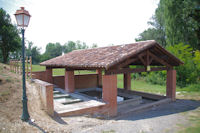
<svg viewBox="0 0 200 133"><path fill-rule="evenodd" d="M21 39L16 26L12 25L9 14L2 8L0 9L0 35L2 42L0 50L3 63L7 63L9 53L19 51L21 48Z"/></svg>

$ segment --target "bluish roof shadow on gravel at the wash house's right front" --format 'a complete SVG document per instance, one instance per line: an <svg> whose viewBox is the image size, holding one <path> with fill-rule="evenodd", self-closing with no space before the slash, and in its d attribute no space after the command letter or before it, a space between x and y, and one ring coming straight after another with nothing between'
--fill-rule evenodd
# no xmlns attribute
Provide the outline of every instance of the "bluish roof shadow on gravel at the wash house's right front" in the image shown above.
<svg viewBox="0 0 200 133"><path fill-rule="evenodd" d="M141 120L154 117L172 115L176 113L192 111L200 107L200 101L177 99L176 102L171 102L165 105L153 107L149 110L131 113L126 116L119 116L116 120Z"/></svg>

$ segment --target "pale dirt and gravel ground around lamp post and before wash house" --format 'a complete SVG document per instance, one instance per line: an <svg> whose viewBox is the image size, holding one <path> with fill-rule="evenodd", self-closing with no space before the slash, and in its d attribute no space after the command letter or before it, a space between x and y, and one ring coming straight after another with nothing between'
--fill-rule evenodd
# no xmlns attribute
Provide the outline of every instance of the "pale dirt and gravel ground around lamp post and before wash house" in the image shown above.
<svg viewBox="0 0 200 133"><path fill-rule="evenodd" d="M33 122L22 122L21 76L0 64L0 133L171 133L189 125L186 112L200 110L199 101L177 100L165 106L111 120L89 116L48 116L42 110L38 89L27 82L28 109ZM181 126L180 126L181 125Z"/></svg>

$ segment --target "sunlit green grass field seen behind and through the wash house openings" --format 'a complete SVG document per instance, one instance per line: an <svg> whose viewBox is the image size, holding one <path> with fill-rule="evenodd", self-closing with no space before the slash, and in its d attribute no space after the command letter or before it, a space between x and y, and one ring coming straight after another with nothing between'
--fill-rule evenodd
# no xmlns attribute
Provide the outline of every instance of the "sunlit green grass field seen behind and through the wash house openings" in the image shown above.
<svg viewBox="0 0 200 133"><path fill-rule="evenodd" d="M33 71L45 71L44 66L40 65L33 65ZM64 69L53 69L53 75L58 76L58 75L64 75ZM95 73L95 71L75 71L75 74L88 74L88 73ZM123 75L118 74L117 75L117 87L118 88L123 88ZM137 90L137 91L144 91L144 92L151 92L151 93L157 93L157 94L165 94L166 89L165 86L161 85L152 85L149 84L143 80L133 80L131 81L131 88L132 90Z"/></svg>

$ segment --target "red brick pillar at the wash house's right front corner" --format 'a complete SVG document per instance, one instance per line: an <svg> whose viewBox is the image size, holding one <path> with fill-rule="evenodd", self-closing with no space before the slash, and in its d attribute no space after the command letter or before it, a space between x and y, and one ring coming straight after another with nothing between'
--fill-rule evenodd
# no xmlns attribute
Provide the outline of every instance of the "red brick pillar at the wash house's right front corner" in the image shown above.
<svg viewBox="0 0 200 133"><path fill-rule="evenodd" d="M172 101L176 100L176 70L167 70L167 97L171 98Z"/></svg>

